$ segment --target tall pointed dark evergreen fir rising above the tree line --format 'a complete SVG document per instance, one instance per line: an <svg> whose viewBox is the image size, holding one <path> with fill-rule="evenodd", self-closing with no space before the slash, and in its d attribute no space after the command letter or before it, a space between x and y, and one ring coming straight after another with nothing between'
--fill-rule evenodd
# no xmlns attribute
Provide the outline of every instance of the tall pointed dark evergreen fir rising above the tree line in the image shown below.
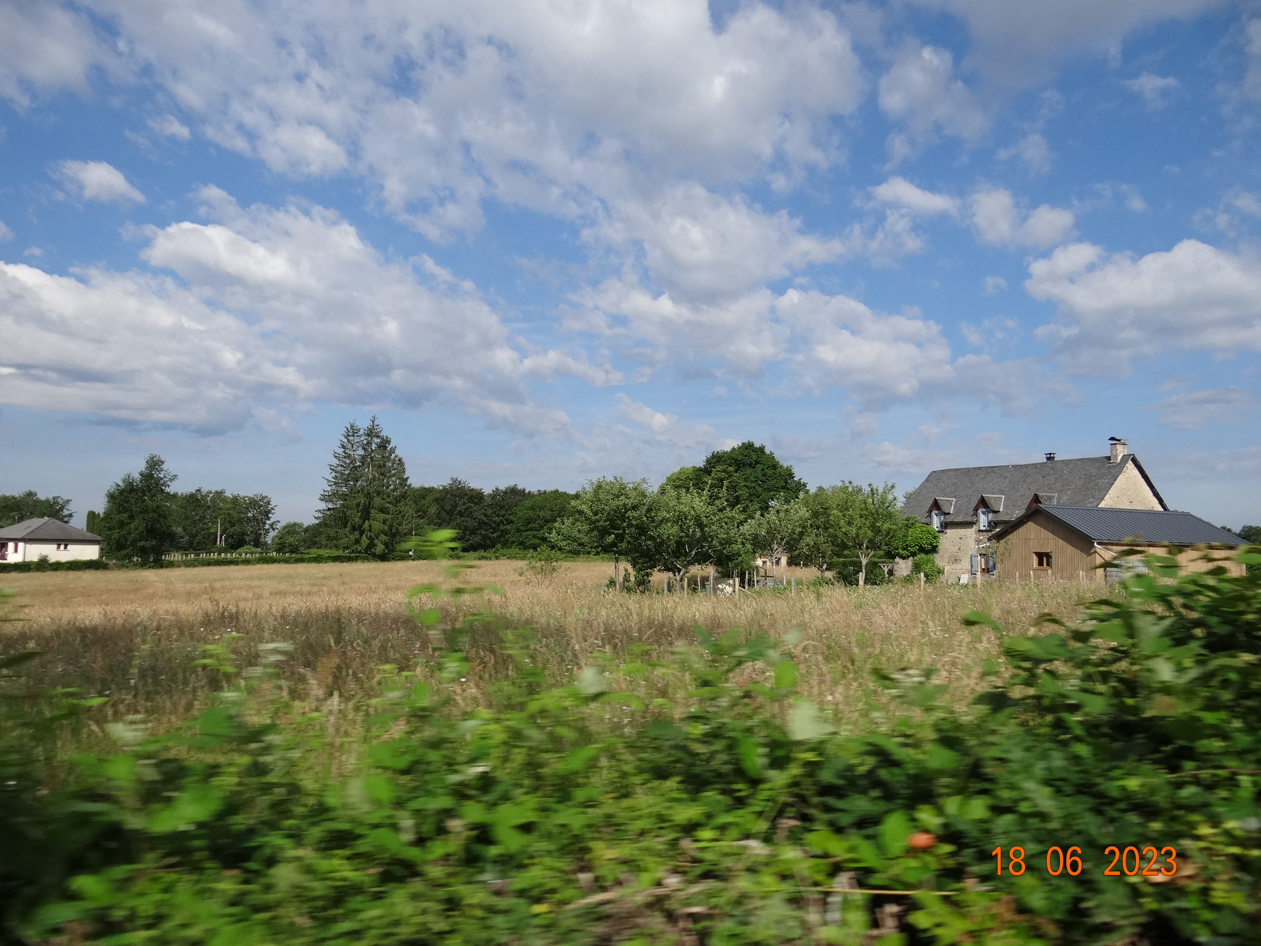
<svg viewBox="0 0 1261 946"><path fill-rule="evenodd" d="M397 448L373 416L366 428L353 420L320 493L319 525L346 551L387 558L411 528L411 484Z"/></svg>

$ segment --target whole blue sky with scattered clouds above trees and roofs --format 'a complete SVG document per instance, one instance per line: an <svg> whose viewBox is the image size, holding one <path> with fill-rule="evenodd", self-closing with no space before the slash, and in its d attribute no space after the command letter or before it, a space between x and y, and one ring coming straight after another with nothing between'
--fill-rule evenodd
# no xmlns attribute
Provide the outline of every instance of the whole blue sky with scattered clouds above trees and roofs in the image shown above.
<svg viewBox="0 0 1261 946"><path fill-rule="evenodd" d="M811 484L1261 522L1261 6L0 0L0 492Z"/></svg>

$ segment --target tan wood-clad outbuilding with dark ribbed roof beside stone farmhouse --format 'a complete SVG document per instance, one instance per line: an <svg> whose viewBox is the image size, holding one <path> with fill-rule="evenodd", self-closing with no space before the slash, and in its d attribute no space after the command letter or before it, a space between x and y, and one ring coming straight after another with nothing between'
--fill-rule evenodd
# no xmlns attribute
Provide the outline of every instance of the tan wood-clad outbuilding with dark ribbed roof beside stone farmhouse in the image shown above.
<svg viewBox="0 0 1261 946"><path fill-rule="evenodd" d="M1242 575L1245 565L1232 561L1241 545L1238 536L1190 512L1037 505L994 532L990 554L999 580L1103 583L1144 569L1141 559L1122 560L1121 552L1169 555L1170 546L1187 571L1224 565Z"/></svg>

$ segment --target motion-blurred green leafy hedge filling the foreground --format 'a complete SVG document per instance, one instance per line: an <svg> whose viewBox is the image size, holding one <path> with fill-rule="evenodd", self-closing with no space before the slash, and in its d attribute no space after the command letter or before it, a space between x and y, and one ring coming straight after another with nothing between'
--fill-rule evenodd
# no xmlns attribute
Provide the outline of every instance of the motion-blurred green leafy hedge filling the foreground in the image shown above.
<svg viewBox="0 0 1261 946"><path fill-rule="evenodd" d="M111 946L1255 943L1261 580L1149 569L1076 626L967 616L1002 641L989 686L957 711L931 671L883 674L861 733L797 695L791 633L740 631L551 690L506 631L514 684L460 710L448 628L436 682L382 669L363 764L335 777L354 747L266 667L180 738L79 758L52 791L19 701L4 921ZM690 681L686 705L609 690L651 675ZM1108 875L1110 845L1155 848L1156 873ZM1053 846L1081 849L1077 875L1049 873Z"/></svg>

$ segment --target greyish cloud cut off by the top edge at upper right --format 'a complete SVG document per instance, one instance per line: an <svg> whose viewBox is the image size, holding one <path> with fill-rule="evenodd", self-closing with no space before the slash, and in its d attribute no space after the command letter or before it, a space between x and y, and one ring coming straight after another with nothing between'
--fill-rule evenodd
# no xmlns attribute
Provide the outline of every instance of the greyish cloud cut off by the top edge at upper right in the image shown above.
<svg viewBox="0 0 1261 946"><path fill-rule="evenodd" d="M1076 53L1112 54L1132 30L1168 19L1190 19L1227 0L915 0L962 19L972 37L968 68L989 81L1033 86Z"/></svg>

